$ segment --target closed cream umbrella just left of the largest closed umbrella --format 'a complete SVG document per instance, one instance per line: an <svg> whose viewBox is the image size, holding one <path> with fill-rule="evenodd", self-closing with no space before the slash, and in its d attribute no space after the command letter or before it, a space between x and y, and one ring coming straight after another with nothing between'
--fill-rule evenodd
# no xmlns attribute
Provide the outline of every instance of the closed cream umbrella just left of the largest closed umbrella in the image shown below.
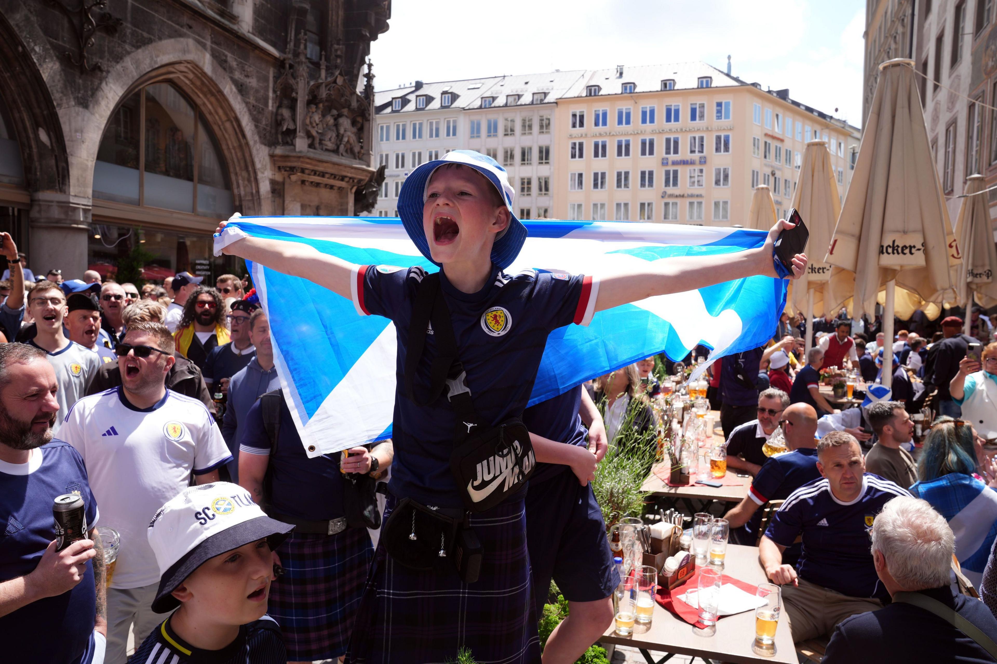
<svg viewBox="0 0 997 664"><path fill-rule="evenodd" d="M810 230L808 254L815 258L807 265L803 276L793 284L793 306L807 316L805 342L810 353L814 339L814 315L824 315L834 304L828 302L825 296L825 286L831 277L831 265L825 262L825 253L831 244L831 232L841 211L841 203L837 197L837 182L826 141L807 144L800 180L793 194L793 206Z"/></svg>

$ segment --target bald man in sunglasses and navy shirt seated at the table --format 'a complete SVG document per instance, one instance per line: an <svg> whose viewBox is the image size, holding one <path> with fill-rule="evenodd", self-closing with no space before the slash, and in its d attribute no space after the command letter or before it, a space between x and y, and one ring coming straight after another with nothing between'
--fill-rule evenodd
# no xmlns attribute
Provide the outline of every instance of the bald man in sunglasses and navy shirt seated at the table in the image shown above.
<svg viewBox="0 0 997 664"><path fill-rule="evenodd" d="M724 516L731 536L740 544L755 545L762 522L759 509L769 500L782 500L809 482L821 478L817 470L817 411L809 404L793 404L780 421L790 452L772 457L762 466L746 496ZM794 564L800 545L786 549L783 562Z"/></svg>

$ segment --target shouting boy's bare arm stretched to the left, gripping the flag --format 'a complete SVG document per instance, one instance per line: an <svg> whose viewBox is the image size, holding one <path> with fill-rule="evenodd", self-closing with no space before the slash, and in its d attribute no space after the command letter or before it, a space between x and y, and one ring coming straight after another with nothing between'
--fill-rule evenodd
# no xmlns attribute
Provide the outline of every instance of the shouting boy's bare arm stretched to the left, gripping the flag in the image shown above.
<svg viewBox="0 0 997 664"><path fill-rule="evenodd" d="M226 222L222 221L214 232L220 233L225 225ZM284 274L308 279L320 286L325 286L346 299L352 297L350 280L356 265L341 258L321 253L307 244L259 237L243 237L226 246L221 252L266 265Z"/></svg>

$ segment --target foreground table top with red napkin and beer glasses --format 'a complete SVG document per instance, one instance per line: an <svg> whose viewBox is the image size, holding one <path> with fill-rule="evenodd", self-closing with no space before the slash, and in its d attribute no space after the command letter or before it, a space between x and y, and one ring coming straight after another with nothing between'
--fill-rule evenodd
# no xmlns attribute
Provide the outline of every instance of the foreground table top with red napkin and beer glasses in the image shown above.
<svg viewBox="0 0 997 664"><path fill-rule="evenodd" d="M768 580L758 561L757 546L728 544L724 574L753 585L765 583ZM640 650L648 664L661 664L675 655L689 655L704 660L709 658L722 662L796 664L798 661L785 607L780 612L779 625L776 628L776 654L774 657L756 655L752 650L752 643L755 640L755 611L745 611L737 615L723 617L717 621L716 634L701 636L694 633L698 630L688 622L655 602L649 628L636 623L634 633L630 636L620 636L614 629L615 625L610 627L605 635L599 639L599 642L635 647ZM667 654L663 658L655 660L650 653L652 650Z"/></svg>

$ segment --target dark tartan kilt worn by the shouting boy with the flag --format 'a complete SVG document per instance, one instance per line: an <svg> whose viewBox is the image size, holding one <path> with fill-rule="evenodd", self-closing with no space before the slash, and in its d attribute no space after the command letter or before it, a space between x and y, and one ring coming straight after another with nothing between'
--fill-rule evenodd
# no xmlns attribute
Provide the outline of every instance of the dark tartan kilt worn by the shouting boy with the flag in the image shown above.
<svg viewBox="0 0 997 664"><path fill-rule="evenodd" d="M385 519L397 501L388 496ZM523 501L474 514L471 525L485 549L481 575L471 585L456 569L400 565L378 544L347 664L456 661L462 647L480 664L540 661Z"/></svg>

